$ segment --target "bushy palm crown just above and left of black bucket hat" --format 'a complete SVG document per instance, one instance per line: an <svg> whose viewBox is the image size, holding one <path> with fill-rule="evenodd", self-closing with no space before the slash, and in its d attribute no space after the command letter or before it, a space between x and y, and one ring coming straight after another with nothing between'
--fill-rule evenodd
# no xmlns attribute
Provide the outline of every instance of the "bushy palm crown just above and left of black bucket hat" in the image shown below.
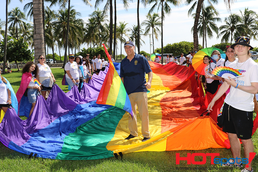
<svg viewBox="0 0 258 172"><path fill-rule="evenodd" d="M222 36L221 42L229 42L232 44L234 38L241 36L239 33L244 32L244 25L239 24L241 17L236 13L230 14L224 19L225 25L220 26L220 33L217 38Z"/></svg>

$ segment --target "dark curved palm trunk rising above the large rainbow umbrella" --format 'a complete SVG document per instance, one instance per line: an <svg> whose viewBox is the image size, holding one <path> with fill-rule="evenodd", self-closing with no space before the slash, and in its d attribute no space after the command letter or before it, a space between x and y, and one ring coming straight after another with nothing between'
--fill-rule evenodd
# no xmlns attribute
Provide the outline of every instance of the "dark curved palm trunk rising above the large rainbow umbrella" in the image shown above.
<svg viewBox="0 0 258 172"><path fill-rule="evenodd" d="M196 15L194 19L194 25L193 25L193 51L198 51L199 49L197 26L198 26L198 21L199 21L201 9L202 9L202 3L203 3L203 0L198 0Z"/></svg>

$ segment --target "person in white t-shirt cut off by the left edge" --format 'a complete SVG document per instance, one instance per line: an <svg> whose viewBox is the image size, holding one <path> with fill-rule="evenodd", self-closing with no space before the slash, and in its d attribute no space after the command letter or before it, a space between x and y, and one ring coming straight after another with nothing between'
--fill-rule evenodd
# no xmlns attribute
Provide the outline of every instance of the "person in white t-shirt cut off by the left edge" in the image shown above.
<svg viewBox="0 0 258 172"><path fill-rule="evenodd" d="M0 113L1 110L6 112L11 103L11 91L7 86L7 81L1 76L0 71Z"/></svg>

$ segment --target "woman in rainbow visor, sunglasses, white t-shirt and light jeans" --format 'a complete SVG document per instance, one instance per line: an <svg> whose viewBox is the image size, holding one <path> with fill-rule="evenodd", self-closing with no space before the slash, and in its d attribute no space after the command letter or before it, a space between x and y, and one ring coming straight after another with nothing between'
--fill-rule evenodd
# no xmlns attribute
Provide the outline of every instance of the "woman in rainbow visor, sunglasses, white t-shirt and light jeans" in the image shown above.
<svg viewBox="0 0 258 172"><path fill-rule="evenodd" d="M74 55L69 54L69 61L65 64L64 70L66 72L65 78L67 83L72 88L74 85L79 85L79 72L77 63L74 62Z"/></svg>

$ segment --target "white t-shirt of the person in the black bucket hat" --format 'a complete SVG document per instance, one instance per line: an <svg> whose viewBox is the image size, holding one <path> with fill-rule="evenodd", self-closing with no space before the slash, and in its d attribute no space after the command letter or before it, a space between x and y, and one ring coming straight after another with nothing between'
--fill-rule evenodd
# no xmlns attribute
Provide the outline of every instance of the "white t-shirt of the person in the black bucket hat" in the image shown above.
<svg viewBox="0 0 258 172"><path fill-rule="evenodd" d="M239 63L238 60L234 61L228 67L236 69L244 75L235 79L238 85L251 86L253 82L258 83L258 64L251 58L248 58L243 63ZM254 94L231 86L224 101L236 109L251 112L254 109L253 97Z"/></svg>

